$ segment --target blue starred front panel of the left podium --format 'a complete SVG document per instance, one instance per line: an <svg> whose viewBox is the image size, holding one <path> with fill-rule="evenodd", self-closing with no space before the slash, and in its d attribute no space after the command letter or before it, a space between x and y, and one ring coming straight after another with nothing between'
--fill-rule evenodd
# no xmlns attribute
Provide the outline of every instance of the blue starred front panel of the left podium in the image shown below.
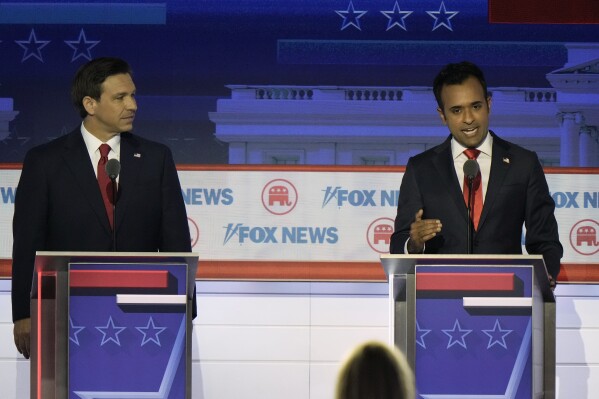
<svg viewBox="0 0 599 399"><path fill-rule="evenodd" d="M71 264L70 399L186 397L186 273Z"/></svg>

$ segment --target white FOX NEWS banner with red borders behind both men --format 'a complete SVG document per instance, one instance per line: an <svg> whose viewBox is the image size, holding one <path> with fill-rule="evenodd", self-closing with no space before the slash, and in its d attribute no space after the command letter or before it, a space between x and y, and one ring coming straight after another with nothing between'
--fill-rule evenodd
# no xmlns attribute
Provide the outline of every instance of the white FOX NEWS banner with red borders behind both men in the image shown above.
<svg viewBox="0 0 599 399"><path fill-rule="evenodd" d="M599 270L599 170L547 169L562 280ZM19 169L0 169L0 258L10 262ZM384 279L403 168L180 168L200 278ZM577 274L578 273L578 274ZM582 281L581 280L581 281Z"/></svg>

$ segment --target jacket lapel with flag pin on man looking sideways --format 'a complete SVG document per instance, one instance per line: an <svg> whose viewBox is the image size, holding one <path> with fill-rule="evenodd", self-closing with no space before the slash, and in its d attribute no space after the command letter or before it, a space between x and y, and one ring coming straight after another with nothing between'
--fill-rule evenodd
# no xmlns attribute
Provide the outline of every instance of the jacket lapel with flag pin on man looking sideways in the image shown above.
<svg viewBox="0 0 599 399"><path fill-rule="evenodd" d="M119 197L117 201L116 227L126 214L133 188L137 185L143 162L139 142L130 133L121 133L121 174L119 177ZM122 188L122 190L121 190Z"/></svg>

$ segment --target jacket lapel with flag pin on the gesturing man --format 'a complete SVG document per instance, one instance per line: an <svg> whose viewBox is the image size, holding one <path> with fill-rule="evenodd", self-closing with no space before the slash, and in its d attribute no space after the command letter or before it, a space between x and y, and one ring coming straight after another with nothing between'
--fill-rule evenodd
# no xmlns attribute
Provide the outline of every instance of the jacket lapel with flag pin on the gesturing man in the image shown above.
<svg viewBox="0 0 599 399"><path fill-rule="evenodd" d="M499 192L505 176L511 166L512 155L509 151L509 145L497 137L493 132L490 133L493 136L493 155L491 157L491 171L489 173L489 183L487 184L487 193L485 194L485 202L483 204L483 210L478 223L478 231L485 224L487 215L493 208L495 198Z"/></svg>

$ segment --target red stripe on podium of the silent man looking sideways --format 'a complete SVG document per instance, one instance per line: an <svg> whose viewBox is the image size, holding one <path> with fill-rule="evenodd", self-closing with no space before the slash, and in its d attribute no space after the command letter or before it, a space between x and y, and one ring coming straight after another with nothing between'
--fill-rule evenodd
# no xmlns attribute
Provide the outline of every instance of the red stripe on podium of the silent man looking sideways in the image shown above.
<svg viewBox="0 0 599 399"><path fill-rule="evenodd" d="M71 288L167 288L166 270L71 270Z"/></svg>

